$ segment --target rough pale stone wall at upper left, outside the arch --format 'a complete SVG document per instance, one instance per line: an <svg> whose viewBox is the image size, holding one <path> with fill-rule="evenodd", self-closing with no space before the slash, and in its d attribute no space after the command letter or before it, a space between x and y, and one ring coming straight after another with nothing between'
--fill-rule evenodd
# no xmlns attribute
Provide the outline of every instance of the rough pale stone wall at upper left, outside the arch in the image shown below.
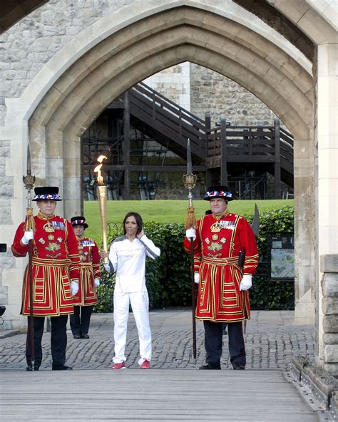
<svg viewBox="0 0 338 422"><path fill-rule="evenodd" d="M120 9L130 0L50 0L0 35L0 123L4 98L21 96L24 89L68 41L93 22Z"/></svg>

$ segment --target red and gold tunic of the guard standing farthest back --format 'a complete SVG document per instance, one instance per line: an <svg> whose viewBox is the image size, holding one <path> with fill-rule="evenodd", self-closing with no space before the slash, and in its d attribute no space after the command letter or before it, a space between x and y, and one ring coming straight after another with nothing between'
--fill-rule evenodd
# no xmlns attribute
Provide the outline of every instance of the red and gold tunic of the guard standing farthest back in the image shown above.
<svg viewBox="0 0 338 422"><path fill-rule="evenodd" d="M100 253L96 242L88 237L78 239L78 254L81 259L81 277L78 293L74 296L74 305L88 307L98 302L94 278L101 277Z"/></svg>

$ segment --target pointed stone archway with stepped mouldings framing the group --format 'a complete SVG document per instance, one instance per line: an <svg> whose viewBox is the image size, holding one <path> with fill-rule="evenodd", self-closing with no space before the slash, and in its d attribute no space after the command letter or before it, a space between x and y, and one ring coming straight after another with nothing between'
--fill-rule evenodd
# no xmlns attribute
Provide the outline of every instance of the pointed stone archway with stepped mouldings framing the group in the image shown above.
<svg viewBox="0 0 338 422"><path fill-rule="evenodd" d="M92 41L31 116L32 163L41 169L36 176L63 187L66 217L78 213L83 130L123 91L182 61L211 68L245 86L295 136L296 240L299 249L307 249L306 258L298 256L296 261L297 312L299 321L309 317L309 305L313 312L314 304L313 81L285 51L242 24L209 11L180 7L150 14L101 42Z"/></svg>

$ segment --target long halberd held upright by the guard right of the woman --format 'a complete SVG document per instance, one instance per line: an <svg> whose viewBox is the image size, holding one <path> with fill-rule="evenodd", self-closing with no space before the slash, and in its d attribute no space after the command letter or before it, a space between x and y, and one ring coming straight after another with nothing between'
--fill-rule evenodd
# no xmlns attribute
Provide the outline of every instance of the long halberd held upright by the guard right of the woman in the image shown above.
<svg viewBox="0 0 338 422"><path fill-rule="evenodd" d="M185 221L185 229L187 230L186 234L190 240L190 281L191 281L191 301L192 301L192 311L193 311L193 356L194 356L194 368L196 367L196 321L195 321L195 274L194 274L194 246L193 246L193 235L195 233L196 219L195 211L193 207L193 188L196 185L197 176L193 174L193 165L191 161L191 145L190 139L188 138L187 143L187 174L183 175L183 182L185 187L188 189L188 208L187 208L187 218Z"/></svg>

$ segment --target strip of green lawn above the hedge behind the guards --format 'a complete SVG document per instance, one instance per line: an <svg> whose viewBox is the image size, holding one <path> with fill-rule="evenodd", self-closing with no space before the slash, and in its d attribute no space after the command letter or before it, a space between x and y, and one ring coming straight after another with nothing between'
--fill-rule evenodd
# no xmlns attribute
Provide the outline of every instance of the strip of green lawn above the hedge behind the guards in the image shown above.
<svg viewBox="0 0 338 422"><path fill-rule="evenodd" d="M260 212L266 212L285 207L285 205L294 205L293 200L241 200L229 202L230 212L240 215L253 215L255 203ZM205 214L209 209L208 201L196 200L193 202L195 207L196 219ZM138 212L144 222L184 222L188 200L153 200L153 201L108 201L107 202L107 222L123 222L127 212ZM101 219L98 209L98 201L84 202L84 215L88 222L86 235L101 242Z"/></svg>

